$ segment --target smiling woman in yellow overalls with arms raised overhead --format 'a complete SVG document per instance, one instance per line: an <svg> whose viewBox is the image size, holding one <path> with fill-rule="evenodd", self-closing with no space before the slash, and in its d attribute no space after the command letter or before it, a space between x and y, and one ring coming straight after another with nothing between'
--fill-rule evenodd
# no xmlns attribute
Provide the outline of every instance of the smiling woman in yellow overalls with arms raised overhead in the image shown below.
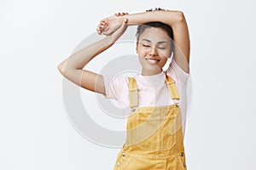
<svg viewBox="0 0 256 170"><path fill-rule="evenodd" d="M141 74L106 77L83 70L90 59L111 47L127 26L135 25ZM155 8L138 14L115 14L101 20L97 32L106 37L72 54L58 69L80 87L131 108L126 141L114 169L186 169L183 139L189 31L183 13ZM163 71L171 56L169 68Z"/></svg>

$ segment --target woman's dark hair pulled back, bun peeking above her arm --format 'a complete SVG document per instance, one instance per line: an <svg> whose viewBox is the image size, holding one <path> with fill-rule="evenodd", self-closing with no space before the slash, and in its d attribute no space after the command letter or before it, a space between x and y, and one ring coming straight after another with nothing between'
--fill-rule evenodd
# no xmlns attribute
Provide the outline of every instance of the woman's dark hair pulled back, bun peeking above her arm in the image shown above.
<svg viewBox="0 0 256 170"><path fill-rule="evenodd" d="M146 12L150 12L150 11L154 11L154 10L166 10L166 9L150 8L150 9L146 10ZM172 40L173 40L172 27L168 26L168 25L166 25L165 23L162 23L162 22L147 22L145 24L138 25L137 26L137 33L136 33L137 42L138 42L141 34L143 33L143 31L145 31L147 28L150 28L150 27L161 28L161 29L163 29L164 31L167 32L168 36L171 37L171 50L173 51L174 43L172 42ZM171 51L171 54L172 54L172 51Z"/></svg>

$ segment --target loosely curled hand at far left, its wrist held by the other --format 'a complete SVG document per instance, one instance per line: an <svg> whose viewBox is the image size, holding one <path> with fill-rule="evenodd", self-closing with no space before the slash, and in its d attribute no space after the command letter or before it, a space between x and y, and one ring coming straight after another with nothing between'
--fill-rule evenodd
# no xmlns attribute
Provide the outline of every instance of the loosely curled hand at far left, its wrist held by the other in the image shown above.
<svg viewBox="0 0 256 170"><path fill-rule="evenodd" d="M101 23L98 25L96 31L99 35L110 35L113 31L116 31L124 22L125 14L128 13L115 13L113 16L101 20Z"/></svg>

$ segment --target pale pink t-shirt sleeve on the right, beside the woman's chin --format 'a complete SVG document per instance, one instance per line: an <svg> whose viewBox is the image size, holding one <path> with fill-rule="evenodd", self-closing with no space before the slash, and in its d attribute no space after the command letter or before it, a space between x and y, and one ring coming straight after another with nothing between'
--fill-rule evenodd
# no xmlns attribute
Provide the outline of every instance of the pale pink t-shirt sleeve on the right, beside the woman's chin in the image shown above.
<svg viewBox="0 0 256 170"><path fill-rule="evenodd" d="M177 77L178 79L180 79L181 82L187 84L190 71L189 73L183 71L183 69L179 65L177 65L175 59L172 59L172 62L167 69L167 74L169 74L171 77Z"/></svg>

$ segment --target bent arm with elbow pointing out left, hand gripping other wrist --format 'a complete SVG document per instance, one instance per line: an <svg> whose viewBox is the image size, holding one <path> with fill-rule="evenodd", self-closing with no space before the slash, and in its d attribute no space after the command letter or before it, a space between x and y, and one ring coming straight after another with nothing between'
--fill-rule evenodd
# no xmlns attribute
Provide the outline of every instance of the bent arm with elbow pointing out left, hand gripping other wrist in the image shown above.
<svg viewBox="0 0 256 170"><path fill-rule="evenodd" d="M116 42L127 28L127 19L124 19L119 28L111 35L104 37L102 40L94 42L89 46L82 48L78 52L64 59L59 65L58 70L71 82L76 83L82 88L106 95L102 75L95 72L83 70L91 59L101 54Z"/></svg>

